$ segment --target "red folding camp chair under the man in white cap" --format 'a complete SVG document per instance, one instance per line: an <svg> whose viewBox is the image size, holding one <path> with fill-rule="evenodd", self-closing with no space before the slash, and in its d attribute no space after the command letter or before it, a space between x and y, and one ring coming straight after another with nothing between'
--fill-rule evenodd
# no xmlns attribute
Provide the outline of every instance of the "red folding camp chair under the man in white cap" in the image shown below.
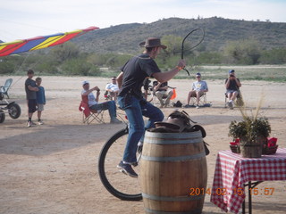
<svg viewBox="0 0 286 214"><path fill-rule="evenodd" d="M91 110L88 107L88 96L81 96L79 111L82 111L82 122L90 124L96 120L98 123L105 123L104 111Z"/></svg>

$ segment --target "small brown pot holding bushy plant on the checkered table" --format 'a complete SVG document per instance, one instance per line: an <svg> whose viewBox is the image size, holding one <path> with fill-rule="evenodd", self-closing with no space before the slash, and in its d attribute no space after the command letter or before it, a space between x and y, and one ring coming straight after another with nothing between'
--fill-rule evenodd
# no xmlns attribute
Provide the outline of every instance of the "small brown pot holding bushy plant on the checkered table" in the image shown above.
<svg viewBox="0 0 286 214"><path fill-rule="evenodd" d="M248 142L247 139L240 139L240 153L243 158L261 158L264 144L264 137L257 137L255 142Z"/></svg>

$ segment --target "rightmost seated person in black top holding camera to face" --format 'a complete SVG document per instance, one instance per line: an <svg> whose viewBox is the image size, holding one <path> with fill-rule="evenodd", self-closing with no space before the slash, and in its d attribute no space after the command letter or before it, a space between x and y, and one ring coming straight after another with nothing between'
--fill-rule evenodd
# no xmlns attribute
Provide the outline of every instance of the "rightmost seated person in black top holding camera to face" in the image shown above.
<svg viewBox="0 0 286 214"><path fill-rule="evenodd" d="M225 79L226 95L229 99L228 106L233 109L234 101L240 93L240 78L235 77L235 71L229 70L229 78Z"/></svg>

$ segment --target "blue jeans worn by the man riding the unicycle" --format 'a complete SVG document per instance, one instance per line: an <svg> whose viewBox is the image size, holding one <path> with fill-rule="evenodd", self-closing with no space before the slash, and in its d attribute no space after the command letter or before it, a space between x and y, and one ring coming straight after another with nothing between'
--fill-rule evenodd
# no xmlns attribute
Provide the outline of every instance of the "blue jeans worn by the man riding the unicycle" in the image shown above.
<svg viewBox="0 0 286 214"><path fill-rule="evenodd" d="M125 146L122 161L135 163L137 144L139 140L143 141L145 129L155 128L154 122L164 119L163 112L156 106L148 103L146 100L139 100L133 95L129 98L119 96L118 103L126 112L126 116L130 123L129 136ZM143 116L149 118L145 126Z"/></svg>

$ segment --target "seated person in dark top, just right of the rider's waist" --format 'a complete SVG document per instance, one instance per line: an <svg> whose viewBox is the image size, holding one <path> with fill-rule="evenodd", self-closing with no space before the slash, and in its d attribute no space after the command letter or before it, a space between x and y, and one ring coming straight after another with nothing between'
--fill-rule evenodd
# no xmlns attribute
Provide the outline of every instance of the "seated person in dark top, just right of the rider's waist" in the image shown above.
<svg viewBox="0 0 286 214"><path fill-rule="evenodd" d="M172 89L168 87L168 82L153 82L153 90L160 102L160 108L167 107L172 97ZM165 100L163 100L165 99Z"/></svg>

